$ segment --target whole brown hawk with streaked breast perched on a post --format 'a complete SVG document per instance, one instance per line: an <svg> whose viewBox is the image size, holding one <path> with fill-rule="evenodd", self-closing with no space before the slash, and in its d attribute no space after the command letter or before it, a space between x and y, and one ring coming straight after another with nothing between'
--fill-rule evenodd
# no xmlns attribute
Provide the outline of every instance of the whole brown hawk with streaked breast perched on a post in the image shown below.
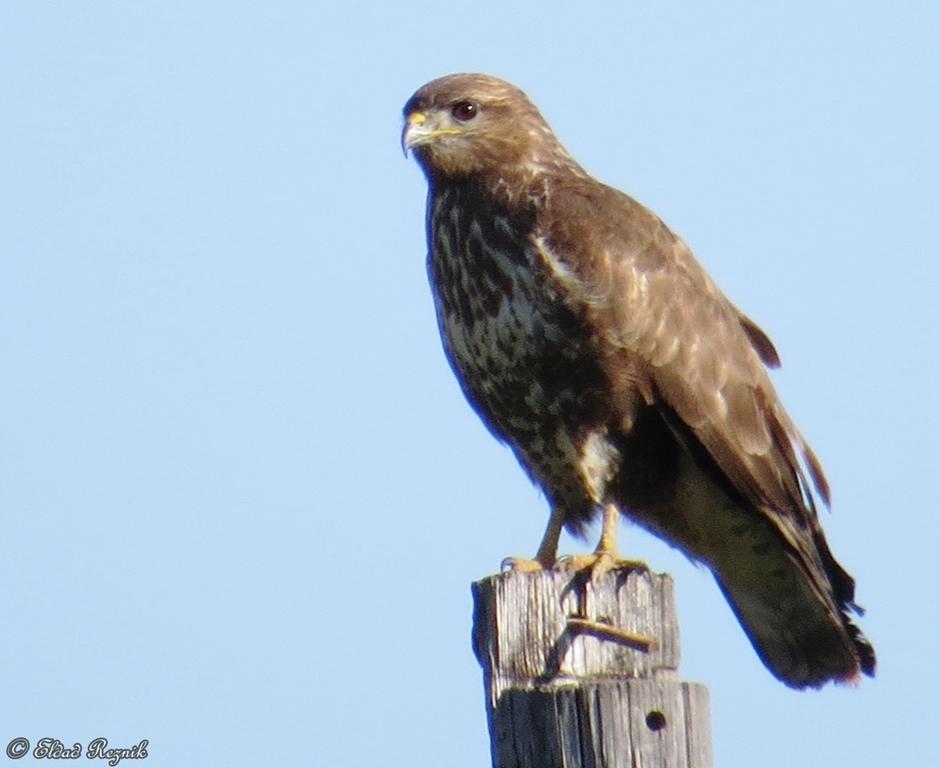
<svg viewBox="0 0 940 768"><path fill-rule="evenodd" d="M562 527L598 513L594 558L613 558L623 514L712 571L787 685L873 675L854 582L816 514L826 480L768 376L770 339L515 86L442 77L404 116L447 358L551 505L517 567L554 567Z"/></svg>

